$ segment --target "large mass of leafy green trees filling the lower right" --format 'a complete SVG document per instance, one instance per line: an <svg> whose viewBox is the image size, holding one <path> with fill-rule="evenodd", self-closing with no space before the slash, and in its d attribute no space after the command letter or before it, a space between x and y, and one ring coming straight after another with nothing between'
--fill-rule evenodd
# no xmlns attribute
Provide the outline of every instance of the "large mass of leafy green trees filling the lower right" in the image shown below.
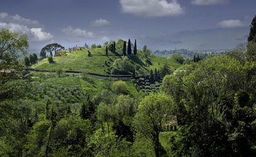
<svg viewBox="0 0 256 157"><path fill-rule="evenodd" d="M255 135L249 132L256 115L244 105L246 91L239 91L246 80L241 63L228 56L212 57L178 71L166 76L162 86L174 101L179 126L173 155L252 155L250 141Z"/></svg>

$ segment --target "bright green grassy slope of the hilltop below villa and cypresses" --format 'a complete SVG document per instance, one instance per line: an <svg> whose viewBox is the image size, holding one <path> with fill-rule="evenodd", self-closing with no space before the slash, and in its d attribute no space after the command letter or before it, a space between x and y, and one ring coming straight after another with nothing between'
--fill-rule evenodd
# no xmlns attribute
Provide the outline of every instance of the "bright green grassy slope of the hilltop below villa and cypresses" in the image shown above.
<svg viewBox="0 0 256 157"><path fill-rule="evenodd" d="M53 57L54 64L49 64L49 61L45 58L31 66L31 68L37 70L74 70L107 75L111 73L111 66L113 66L115 59L122 58L123 43L123 40L118 40L118 42L116 42L116 53L114 54L109 50L108 57L106 56L106 46L103 46L101 48L90 49L92 57L88 57L88 50L80 50L67 53L67 56ZM146 62L148 59L152 64ZM137 65L137 67L140 67L137 70L137 73L140 74L147 74L151 69L159 69L165 62L170 66L171 70L180 66L180 64L173 59L157 56L145 57L141 50L138 50L137 56L130 57L129 61L134 64L134 66Z"/></svg>

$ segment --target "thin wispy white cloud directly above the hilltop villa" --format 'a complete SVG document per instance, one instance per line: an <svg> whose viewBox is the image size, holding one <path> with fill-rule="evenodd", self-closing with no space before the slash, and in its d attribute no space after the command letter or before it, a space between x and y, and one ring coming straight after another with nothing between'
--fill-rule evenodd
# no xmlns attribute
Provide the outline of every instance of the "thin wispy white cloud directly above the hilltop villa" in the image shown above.
<svg viewBox="0 0 256 157"><path fill-rule="evenodd" d="M86 31L86 30L82 30L79 28L72 28L70 26L68 26L67 28L62 29L62 32L70 35L70 36L86 36L86 37L93 37L93 33L90 31Z"/></svg>

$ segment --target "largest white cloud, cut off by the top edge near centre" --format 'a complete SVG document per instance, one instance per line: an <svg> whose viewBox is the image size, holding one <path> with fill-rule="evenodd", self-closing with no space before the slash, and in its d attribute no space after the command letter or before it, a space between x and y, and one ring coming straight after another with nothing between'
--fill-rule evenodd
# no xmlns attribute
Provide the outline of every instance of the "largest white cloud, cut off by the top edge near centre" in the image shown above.
<svg viewBox="0 0 256 157"><path fill-rule="evenodd" d="M124 13L141 17L175 16L184 13L177 0L120 0Z"/></svg>

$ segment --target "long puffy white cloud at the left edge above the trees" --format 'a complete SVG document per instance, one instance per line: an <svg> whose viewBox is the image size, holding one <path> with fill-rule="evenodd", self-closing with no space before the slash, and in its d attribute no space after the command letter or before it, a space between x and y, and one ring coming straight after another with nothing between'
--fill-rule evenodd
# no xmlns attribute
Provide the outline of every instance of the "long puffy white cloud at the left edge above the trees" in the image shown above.
<svg viewBox="0 0 256 157"><path fill-rule="evenodd" d="M26 33L31 41L47 41L53 38L51 33L46 33L42 31L42 28L31 28L28 26L0 22L0 29L7 28L10 31L17 31L18 33Z"/></svg>

